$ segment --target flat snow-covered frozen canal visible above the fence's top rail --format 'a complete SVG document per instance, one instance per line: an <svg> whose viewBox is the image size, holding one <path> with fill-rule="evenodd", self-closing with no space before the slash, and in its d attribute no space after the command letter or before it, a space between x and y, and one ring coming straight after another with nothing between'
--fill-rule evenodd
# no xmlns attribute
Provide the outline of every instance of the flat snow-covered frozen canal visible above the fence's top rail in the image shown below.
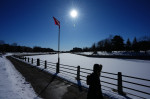
<svg viewBox="0 0 150 99"><path fill-rule="evenodd" d="M49 62L57 62L57 54L55 55L38 55L30 56L30 58L40 58ZM65 65L78 66L92 69L95 63L103 65L103 71L118 73L124 75L132 75L150 79L150 61L136 59L114 59L114 58L91 58L75 54L60 54L60 63Z"/></svg>

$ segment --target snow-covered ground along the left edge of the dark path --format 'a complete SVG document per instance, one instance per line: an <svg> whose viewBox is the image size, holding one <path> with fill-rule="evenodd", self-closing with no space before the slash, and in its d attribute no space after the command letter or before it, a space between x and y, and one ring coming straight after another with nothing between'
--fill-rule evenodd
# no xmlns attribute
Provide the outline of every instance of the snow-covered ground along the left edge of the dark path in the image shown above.
<svg viewBox="0 0 150 99"><path fill-rule="evenodd" d="M0 57L0 99L33 99L36 96L11 62Z"/></svg>

